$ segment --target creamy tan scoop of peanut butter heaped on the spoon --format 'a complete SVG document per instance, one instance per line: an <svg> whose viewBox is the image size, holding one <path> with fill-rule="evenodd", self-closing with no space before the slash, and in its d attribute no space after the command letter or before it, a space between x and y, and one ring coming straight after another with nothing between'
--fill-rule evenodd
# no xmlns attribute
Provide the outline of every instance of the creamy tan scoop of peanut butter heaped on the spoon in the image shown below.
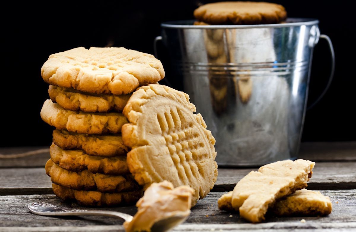
<svg viewBox="0 0 356 232"><path fill-rule="evenodd" d="M194 190L189 186L173 187L168 181L153 183L137 201L137 213L131 222L125 222L127 232L151 231L157 221L176 215L188 216Z"/></svg>

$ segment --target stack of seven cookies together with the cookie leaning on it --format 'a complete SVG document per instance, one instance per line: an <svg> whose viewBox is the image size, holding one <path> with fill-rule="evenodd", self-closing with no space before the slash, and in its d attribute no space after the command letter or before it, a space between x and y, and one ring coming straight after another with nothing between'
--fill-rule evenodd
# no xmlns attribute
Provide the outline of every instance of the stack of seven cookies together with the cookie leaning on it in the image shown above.
<svg viewBox="0 0 356 232"><path fill-rule="evenodd" d="M49 56L41 73L51 98L41 117L56 127L46 172L57 196L129 204L168 180L194 189L195 205L213 188L215 139L187 94L153 84L164 78L155 57L75 48Z"/></svg>

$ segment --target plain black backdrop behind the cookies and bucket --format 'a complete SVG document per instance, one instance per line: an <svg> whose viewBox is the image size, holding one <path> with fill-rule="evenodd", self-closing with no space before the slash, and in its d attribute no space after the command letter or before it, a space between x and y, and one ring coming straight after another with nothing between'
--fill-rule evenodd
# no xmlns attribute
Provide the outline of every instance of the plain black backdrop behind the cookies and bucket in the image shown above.
<svg viewBox="0 0 356 232"><path fill-rule="evenodd" d="M2 20L1 147L49 145L53 128L41 120L48 98L40 75L52 53L75 47L126 47L153 53L160 23L193 19L193 10L210 1L51 1L38 6L14 2ZM303 141L356 140L355 12L348 1L275 1L289 17L320 20L320 31L334 43L336 72L324 98L305 117ZM16 5L17 4L17 5ZM46 5L49 4L49 5ZM16 9L16 10L15 10ZM162 59L169 78L169 65ZM325 41L314 49L309 104L323 91L330 72ZM177 87L177 86L176 86Z"/></svg>

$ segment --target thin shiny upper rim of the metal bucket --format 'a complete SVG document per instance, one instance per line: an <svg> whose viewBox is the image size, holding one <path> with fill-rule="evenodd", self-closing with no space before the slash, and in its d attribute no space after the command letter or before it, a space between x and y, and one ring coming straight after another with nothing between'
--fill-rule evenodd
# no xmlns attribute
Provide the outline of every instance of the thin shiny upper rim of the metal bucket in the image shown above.
<svg viewBox="0 0 356 232"><path fill-rule="evenodd" d="M312 26L319 23L317 19L310 18L287 18L285 23L254 24L254 25L193 25L197 20L178 20L161 23L162 28L176 29L242 29L242 28L279 28Z"/></svg>

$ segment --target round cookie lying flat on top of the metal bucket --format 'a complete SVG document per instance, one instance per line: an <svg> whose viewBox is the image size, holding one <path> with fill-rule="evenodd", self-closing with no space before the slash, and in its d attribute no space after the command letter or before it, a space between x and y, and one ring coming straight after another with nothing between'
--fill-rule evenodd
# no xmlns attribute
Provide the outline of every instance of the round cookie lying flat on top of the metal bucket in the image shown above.
<svg viewBox="0 0 356 232"><path fill-rule="evenodd" d="M214 2L199 6L194 17L211 25L269 24L287 18L282 5L269 2ZM198 24L201 25L201 24Z"/></svg>

